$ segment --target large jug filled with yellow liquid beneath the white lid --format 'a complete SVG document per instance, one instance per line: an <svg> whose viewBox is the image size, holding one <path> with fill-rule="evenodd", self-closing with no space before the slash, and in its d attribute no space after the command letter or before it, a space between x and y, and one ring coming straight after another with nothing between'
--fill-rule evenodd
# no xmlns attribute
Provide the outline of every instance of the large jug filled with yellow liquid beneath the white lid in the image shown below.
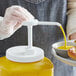
<svg viewBox="0 0 76 76"><path fill-rule="evenodd" d="M0 57L0 76L54 76L53 73L53 64L46 57L32 63L18 63Z"/></svg>

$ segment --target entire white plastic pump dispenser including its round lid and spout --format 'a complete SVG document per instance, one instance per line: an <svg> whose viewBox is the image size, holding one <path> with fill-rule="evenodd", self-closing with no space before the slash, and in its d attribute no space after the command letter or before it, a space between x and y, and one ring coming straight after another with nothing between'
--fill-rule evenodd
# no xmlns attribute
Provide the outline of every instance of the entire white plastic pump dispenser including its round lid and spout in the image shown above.
<svg viewBox="0 0 76 76"><path fill-rule="evenodd" d="M28 46L15 46L6 51L6 58L15 62L36 62L44 58L44 51L41 48L34 47L32 40L32 28L36 25L57 25L61 26L58 22L41 22L37 19L25 21L24 26L28 27Z"/></svg>

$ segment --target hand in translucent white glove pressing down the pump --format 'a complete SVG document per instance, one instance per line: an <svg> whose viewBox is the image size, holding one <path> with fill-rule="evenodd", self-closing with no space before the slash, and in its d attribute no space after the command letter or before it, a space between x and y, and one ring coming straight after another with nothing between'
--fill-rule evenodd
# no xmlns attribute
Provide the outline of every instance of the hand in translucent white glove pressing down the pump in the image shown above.
<svg viewBox="0 0 76 76"><path fill-rule="evenodd" d="M10 37L22 26L23 21L31 19L34 19L34 16L21 6L15 5L7 8L0 25L0 39L2 40Z"/></svg>

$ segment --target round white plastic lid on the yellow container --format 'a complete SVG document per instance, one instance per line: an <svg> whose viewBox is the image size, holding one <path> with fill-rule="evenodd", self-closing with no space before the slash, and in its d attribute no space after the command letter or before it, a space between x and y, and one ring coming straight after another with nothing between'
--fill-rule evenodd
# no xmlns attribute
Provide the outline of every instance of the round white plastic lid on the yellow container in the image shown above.
<svg viewBox="0 0 76 76"><path fill-rule="evenodd" d="M44 58L44 51L38 47L15 46L6 50L6 58L14 62L36 62Z"/></svg>

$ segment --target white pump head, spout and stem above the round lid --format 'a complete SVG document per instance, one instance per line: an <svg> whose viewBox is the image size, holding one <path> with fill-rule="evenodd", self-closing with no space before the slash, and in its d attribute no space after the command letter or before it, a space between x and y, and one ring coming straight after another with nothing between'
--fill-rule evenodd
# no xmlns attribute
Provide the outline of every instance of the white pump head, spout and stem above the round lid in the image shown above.
<svg viewBox="0 0 76 76"><path fill-rule="evenodd" d="M56 25L59 27L61 26L61 24L58 22L38 21L37 19L33 19L31 21L25 21L23 25L28 27L28 48L32 48L33 46L33 40L32 40L33 26L36 26L36 25Z"/></svg>

